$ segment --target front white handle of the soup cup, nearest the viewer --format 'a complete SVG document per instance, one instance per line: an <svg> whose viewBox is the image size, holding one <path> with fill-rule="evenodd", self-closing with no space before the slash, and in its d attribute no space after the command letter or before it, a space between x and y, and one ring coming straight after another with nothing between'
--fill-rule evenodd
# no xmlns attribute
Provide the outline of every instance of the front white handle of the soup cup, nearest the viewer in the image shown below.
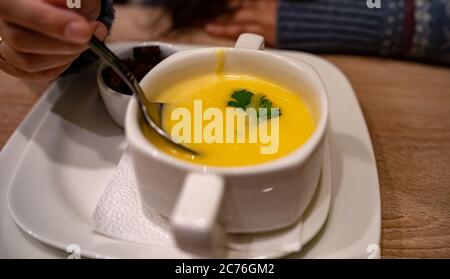
<svg viewBox="0 0 450 279"><path fill-rule="evenodd" d="M224 179L191 173L186 178L171 216L175 242L192 254L212 256L224 246L225 231L219 224Z"/></svg>

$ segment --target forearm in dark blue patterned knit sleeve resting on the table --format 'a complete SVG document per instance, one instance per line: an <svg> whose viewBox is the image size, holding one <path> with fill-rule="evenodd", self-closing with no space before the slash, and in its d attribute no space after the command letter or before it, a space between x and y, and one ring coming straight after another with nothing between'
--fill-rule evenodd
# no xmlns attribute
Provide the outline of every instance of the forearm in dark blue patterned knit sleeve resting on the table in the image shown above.
<svg viewBox="0 0 450 279"><path fill-rule="evenodd" d="M381 3L369 9L364 0L280 0L277 45L450 62L450 1Z"/></svg>

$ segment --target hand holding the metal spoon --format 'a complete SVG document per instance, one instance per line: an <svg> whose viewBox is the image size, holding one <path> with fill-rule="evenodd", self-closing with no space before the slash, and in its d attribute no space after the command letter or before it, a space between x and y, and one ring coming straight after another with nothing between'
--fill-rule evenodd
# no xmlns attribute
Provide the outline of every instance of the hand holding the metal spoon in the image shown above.
<svg viewBox="0 0 450 279"><path fill-rule="evenodd" d="M83 1L69 10L66 0L0 0L0 70L28 80L60 76L106 26L95 21L100 0ZM75 12L77 11L77 12Z"/></svg>

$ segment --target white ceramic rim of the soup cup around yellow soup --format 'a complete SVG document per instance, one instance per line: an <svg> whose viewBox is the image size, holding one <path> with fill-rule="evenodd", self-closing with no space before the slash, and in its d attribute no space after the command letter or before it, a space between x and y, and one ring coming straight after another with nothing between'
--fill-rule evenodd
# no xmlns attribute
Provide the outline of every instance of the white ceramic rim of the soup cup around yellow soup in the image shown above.
<svg viewBox="0 0 450 279"><path fill-rule="evenodd" d="M154 67L147 75L151 75L153 72L158 71L159 68L165 67L165 65L172 63L175 59L195 59L196 56L204 55L205 52L216 52L217 50L225 50L228 52L236 52L241 54L246 53L257 53L262 57L277 57L278 59L282 59L284 63L289 64L289 66L296 68L299 72L303 72L304 69L299 66L299 63L302 63L303 66L309 67L309 70L312 71L314 77L317 78L316 82L318 87L320 87L319 92L317 92L320 101L320 119L318 123L316 123L315 130L310 138L297 149L292 151L291 153L275 159L270 162L261 163L257 165L251 166L240 166L240 167L210 167L210 166L202 166L194 163L190 163L187 161L183 161L176 157L170 156L165 152L159 150L155 147L143 134L141 127L139 126L139 121L136 120L138 117L138 107L136 100L132 99L130 104L128 105L127 115L125 118L125 133L127 136L127 140L129 144L132 144L135 148L139 149L141 152L147 154L148 156L154 157L165 164L172 164L180 169L187 169L192 172L200 172L200 173L216 173L224 176L245 176L249 174L262 173L262 172L277 172L283 169L290 169L294 167L298 167L303 164L310 155L316 150L316 148L322 143L325 138L326 129L328 126L328 100L327 100L327 89L324 85L322 78L320 77L317 70L309 63L304 60L292 58L288 58L285 56L281 56L274 53L268 53L265 51L256 51L256 50L247 50L247 49L236 49L236 48L223 48L223 47L215 47L215 48L201 48L201 49L192 49L185 50L182 52L175 53L170 57L166 58L156 67ZM299 63L296 61L298 60ZM181 62L181 61L180 61ZM145 83L148 77L144 77L141 81L141 84Z"/></svg>

